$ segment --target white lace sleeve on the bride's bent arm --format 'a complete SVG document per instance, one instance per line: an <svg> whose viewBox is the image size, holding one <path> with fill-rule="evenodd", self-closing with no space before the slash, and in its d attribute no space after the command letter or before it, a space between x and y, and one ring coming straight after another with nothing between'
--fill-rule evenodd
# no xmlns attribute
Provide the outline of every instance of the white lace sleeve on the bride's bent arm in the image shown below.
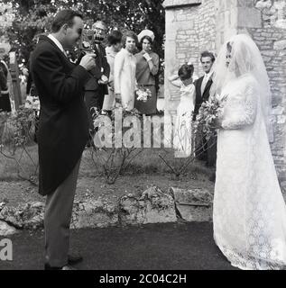
<svg viewBox="0 0 286 288"><path fill-rule="evenodd" d="M223 129L243 129L252 125L256 117L257 92L254 85L247 85L240 99L231 101L228 105L229 117L222 121Z"/></svg>

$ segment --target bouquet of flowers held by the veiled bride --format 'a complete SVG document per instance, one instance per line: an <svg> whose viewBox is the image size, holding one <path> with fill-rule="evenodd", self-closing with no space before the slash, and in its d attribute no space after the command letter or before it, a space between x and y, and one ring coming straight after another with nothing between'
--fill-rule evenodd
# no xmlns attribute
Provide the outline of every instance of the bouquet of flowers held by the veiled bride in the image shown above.
<svg viewBox="0 0 286 288"><path fill-rule="evenodd" d="M214 135L215 129L212 124L222 114L222 102L224 100L225 97L218 100L216 96L210 96L208 101L201 104L196 121L193 124L195 133L198 133L199 128L201 128L203 134L206 135L206 139Z"/></svg>

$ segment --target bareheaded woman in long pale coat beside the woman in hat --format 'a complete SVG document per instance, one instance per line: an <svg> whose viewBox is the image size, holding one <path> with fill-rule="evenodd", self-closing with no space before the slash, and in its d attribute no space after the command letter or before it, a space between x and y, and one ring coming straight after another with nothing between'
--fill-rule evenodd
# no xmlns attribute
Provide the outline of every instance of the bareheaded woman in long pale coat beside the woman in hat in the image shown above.
<svg viewBox="0 0 286 288"><path fill-rule="evenodd" d="M121 49L115 56L115 98L126 110L134 109L136 82L136 58L134 51L138 39L134 31L126 31Z"/></svg>

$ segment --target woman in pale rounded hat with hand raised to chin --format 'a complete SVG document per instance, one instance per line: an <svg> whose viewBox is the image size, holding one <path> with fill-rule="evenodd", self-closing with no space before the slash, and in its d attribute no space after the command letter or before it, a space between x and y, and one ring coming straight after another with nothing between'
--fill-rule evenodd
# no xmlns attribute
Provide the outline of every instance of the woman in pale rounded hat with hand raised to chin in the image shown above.
<svg viewBox="0 0 286 288"><path fill-rule="evenodd" d="M151 91L152 96L146 101L135 99L135 108L146 115L157 112L157 94L155 88L155 76L159 71L159 56L152 51L154 33L150 30L143 30L138 35L138 40L142 45L142 51L135 55L136 58L136 80L137 84L142 85Z"/></svg>

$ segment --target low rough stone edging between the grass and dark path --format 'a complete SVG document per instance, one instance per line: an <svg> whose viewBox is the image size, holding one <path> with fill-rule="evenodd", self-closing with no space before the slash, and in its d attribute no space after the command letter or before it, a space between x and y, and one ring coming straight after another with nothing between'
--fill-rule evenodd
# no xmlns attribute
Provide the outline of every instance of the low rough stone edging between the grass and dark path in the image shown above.
<svg viewBox="0 0 286 288"><path fill-rule="evenodd" d="M171 187L168 193L164 193L153 186L140 197L128 194L113 203L103 198L75 202L70 228L104 228L180 220L201 222L211 221L211 215L212 193L208 190ZM43 217L43 202L27 203L19 207L0 203L0 224L4 231L14 233L16 229L42 229Z"/></svg>

